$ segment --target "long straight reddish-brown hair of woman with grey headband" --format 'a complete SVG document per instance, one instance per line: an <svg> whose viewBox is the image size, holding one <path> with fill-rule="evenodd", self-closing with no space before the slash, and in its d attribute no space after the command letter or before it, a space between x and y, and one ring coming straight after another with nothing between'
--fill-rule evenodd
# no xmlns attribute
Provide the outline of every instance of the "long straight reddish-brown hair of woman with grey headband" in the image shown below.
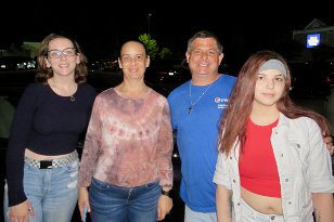
<svg viewBox="0 0 334 222"><path fill-rule="evenodd" d="M219 151L229 154L236 140L236 142L241 143L241 148L243 148L247 136L246 121L253 107L258 70L269 60L281 61L286 69L285 88L281 99L278 101L278 109L292 119L303 116L312 118L317 121L322 132L330 134L327 121L323 116L306 107L298 106L291 100L291 74L283 56L272 51L259 51L248 57L239 73L236 83L229 100L229 106L219 122Z"/></svg>

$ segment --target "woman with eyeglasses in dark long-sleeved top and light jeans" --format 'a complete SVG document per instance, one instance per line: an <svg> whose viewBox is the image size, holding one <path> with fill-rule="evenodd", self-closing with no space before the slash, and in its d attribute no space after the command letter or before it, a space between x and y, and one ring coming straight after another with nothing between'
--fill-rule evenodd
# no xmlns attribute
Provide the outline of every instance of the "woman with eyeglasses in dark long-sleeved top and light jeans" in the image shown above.
<svg viewBox="0 0 334 222"><path fill-rule="evenodd" d="M37 52L36 82L17 105L7 152L5 221L69 222L77 204L79 158L97 95L87 58L63 35L47 36Z"/></svg>

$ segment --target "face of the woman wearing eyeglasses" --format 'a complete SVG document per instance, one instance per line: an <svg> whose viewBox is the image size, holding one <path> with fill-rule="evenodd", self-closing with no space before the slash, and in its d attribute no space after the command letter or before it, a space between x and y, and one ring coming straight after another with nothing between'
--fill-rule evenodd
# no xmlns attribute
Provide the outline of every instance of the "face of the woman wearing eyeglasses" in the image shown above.
<svg viewBox="0 0 334 222"><path fill-rule="evenodd" d="M73 42L66 38L51 40L48 56L44 60L47 67L51 67L53 74L59 76L74 76L76 65L80 63Z"/></svg>

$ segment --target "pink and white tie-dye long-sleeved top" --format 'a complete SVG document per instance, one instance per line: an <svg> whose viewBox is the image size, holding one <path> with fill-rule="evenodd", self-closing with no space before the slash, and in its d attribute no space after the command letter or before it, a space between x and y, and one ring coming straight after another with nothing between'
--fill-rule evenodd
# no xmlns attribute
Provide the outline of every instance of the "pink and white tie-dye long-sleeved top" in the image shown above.
<svg viewBox="0 0 334 222"><path fill-rule="evenodd" d="M114 88L94 102L81 156L79 186L92 177L133 187L159 181L172 186L172 132L165 96L150 89L129 99Z"/></svg>

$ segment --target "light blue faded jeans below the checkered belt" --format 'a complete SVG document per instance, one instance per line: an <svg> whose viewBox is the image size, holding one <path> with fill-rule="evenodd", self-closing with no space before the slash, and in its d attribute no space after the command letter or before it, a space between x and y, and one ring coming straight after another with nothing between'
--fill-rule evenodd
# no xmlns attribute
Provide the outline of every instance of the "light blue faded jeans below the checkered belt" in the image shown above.
<svg viewBox="0 0 334 222"><path fill-rule="evenodd" d="M70 222L78 200L79 159L66 167L38 169L24 166L24 192L35 217L29 222ZM4 187L3 212L9 222L8 187Z"/></svg>

